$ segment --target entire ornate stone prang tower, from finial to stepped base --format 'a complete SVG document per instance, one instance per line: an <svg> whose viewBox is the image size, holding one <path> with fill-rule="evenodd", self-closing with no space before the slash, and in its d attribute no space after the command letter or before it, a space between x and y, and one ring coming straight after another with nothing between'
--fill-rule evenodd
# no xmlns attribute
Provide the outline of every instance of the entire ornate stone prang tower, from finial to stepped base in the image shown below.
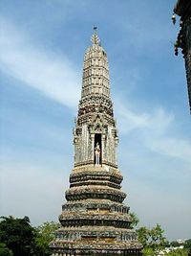
<svg viewBox="0 0 191 256"><path fill-rule="evenodd" d="M74 169L59 216L62 226L51 244L53 256L140 255L129 207L123 204L117 143L108 60L95 30L84 57Z"/></svg>

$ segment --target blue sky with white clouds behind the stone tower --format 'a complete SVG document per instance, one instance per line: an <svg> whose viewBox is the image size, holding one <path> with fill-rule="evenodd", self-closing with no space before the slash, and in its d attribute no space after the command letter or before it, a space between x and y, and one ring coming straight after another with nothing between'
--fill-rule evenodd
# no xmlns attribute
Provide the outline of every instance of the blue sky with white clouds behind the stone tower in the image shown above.
<svg viewBox="0 0 191 256"><path fill-rule="evenodd" d="M0 215L56 221L93 26L110 65L126 203L168 239L191 234L191 135L174 0L0 3Z"/></svg>

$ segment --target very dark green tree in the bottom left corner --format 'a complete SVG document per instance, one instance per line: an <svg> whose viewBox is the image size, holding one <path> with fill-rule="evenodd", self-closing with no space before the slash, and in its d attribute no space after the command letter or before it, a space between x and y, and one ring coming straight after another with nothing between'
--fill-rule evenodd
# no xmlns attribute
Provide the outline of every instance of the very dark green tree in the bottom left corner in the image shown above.
<svg viewBox="0 0 191 256"><path fill-rule="evenodd" d="M30 224L30 219L14 219L13 217L0 218L0 243L5 244L1 250L7 250L7 255L30 256L32 255L32 245L34 241L34 229Z"/></svg>

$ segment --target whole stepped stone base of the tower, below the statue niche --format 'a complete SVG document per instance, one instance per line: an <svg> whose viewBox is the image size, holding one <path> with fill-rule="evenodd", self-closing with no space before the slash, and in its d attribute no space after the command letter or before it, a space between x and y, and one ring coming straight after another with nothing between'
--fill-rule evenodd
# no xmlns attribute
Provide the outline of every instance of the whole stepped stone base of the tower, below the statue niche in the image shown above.
<svg viewBox="0 0 191 256"><path fill-rule="evenodd" d="M53 256L141 255L114 168L74 168L51 247Z"/></svg>

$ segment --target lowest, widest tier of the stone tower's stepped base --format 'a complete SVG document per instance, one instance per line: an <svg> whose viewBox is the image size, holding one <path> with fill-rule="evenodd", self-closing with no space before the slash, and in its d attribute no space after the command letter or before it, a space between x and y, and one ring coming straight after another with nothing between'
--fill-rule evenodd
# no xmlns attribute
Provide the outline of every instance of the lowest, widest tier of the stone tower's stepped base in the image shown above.
<svg viewBox="0 0 191 256"><path fill-rule="evenodd" d="M141 245L135 232L93 232L58 230L52 245L58 254L53 255L139 255ZM61 254L59 254L61 253ZM65 254L66 253L66 254Z"/></svg>

